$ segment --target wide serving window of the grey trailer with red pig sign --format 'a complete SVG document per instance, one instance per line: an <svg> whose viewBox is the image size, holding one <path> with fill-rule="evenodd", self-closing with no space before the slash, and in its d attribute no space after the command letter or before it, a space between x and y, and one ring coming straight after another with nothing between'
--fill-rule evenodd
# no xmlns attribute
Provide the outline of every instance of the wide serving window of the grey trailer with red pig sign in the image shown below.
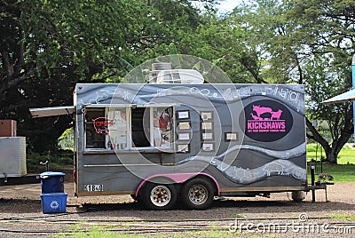
<svg viewBox="0 0 355 238"><path fill-rule="evenodd" d="M173 107L92 105L84 111L86 149L173 147Z"/></svg>

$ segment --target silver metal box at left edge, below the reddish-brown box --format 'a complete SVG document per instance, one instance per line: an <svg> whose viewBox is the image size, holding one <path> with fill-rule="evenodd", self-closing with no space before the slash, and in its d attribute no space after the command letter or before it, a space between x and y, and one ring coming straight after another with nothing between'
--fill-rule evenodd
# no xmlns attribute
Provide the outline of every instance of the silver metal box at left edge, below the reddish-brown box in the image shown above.
<svg viewBox="0 0 355 238"><path fill-rule="evenodd" d="M26 174L26 138L0 137L0 178Z"/></svg>

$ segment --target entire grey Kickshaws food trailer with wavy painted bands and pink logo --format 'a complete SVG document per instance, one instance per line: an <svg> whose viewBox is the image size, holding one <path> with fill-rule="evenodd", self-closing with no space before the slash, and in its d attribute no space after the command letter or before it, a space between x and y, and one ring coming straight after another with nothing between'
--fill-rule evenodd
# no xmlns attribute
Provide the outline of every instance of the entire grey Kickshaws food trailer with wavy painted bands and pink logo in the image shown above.
<svg viewBox="0 0 355 238"><path fill-rule="evenodd" d="M151 83L78 83L74 106L31 109L34 117L74 115L76 196L131 194L148 209L179 202L202 210L215 196L292 192L302 200L315 189L304 85L163 73Z"/></svg>

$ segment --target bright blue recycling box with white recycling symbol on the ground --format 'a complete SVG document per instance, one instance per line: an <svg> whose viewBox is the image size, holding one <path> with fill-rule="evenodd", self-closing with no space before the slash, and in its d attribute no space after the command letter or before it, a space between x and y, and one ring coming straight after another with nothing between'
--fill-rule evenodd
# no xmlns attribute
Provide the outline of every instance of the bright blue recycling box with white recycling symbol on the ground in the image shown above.
<svg viewBox="0 0 355 238"><path fill-rule="evenodd" d="M67 194L41 194L43 213L64 213L67 210Z"/></svg>

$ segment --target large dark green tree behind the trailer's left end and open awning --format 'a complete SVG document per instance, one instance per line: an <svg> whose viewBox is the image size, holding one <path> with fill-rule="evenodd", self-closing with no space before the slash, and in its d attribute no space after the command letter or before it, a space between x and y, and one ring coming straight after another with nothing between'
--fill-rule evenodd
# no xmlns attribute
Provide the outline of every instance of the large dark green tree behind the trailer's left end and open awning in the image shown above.
<svg viewBox="0 0 355 238"><path fill-rule="evenodd" d="M71 105L78 82L120 82L200 24L187 0L4 0L0 11L0 118L36 151L55 149L71 119L33 120L28 107Z"/></svg>

